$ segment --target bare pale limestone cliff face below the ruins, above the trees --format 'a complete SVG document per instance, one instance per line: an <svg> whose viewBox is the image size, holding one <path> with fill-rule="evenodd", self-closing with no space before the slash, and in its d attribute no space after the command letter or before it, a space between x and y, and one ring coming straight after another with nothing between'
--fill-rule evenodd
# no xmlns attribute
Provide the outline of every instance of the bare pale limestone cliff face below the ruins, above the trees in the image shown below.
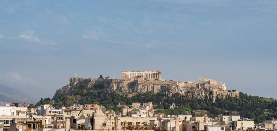
<svg viewBox="0 0 277 131"><path fill-rule="evenodd" d="M153 93L165 92L172 95L179 93L186 95L188 98L204 98L207 96L216 96L224 98L230 95L230 92L219 89L218 85L210 85L199 82L180 82L180 81L156 81L156 80L126 80L126 79L82 79L82 78L70 78L69 83L64 87L57 90L63 94L69 94L70 91L86 87L96 90L116 91L121 94L128 94L132 96L137 93L143 93L151 91ZM234 93L232 94L234 96ZM236 94L235 94L236 95Z"/></svg>

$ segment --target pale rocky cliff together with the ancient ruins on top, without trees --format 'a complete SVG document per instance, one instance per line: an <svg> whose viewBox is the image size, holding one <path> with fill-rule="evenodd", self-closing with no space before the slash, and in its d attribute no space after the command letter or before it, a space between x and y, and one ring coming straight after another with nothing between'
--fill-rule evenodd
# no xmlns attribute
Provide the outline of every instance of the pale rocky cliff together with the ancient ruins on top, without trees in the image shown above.
<svg viewBox="0 0 277 131"><path fill-rule="evenodd" d="M89 90L116 91L121 94L132 96L137 93L151 91L153 93L165 92L169 95L179 93L192 98L204 98L205 95L224 98L225 96L236 96L238 91L226 91L225 83L218 85L217 80L199 78L196 81L174 81L163 80L161 71L122 71L121 79L100 78L69 78L69 83L57 90L63 94L70 95L71 91L85 87ZM194 95L192 95L194 94Z"/></svg>

